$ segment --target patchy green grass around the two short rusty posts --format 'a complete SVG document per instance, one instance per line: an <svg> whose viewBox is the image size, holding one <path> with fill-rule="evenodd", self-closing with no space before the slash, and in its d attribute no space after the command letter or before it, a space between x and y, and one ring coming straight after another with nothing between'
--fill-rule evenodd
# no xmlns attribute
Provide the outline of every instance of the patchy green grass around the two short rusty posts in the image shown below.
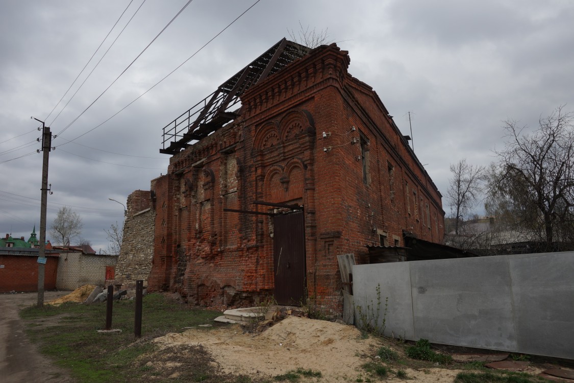
<svg viewBox="0 0 574 383"><path fill-rule="evenodd" d="M221 373L200 346L160 350L149 342L168 332L181 332L183 327L211 323L219 312L190 308L159 294L147 295L143 300L142 338L136 341L134 308L131 300L114 302L112 328L122 332L113 334L96 331L106 324L104 303L33 306L22 310L20 316L40 351L81 382L259 382ZM168 361L177 365L170 367Z"/></svg>

